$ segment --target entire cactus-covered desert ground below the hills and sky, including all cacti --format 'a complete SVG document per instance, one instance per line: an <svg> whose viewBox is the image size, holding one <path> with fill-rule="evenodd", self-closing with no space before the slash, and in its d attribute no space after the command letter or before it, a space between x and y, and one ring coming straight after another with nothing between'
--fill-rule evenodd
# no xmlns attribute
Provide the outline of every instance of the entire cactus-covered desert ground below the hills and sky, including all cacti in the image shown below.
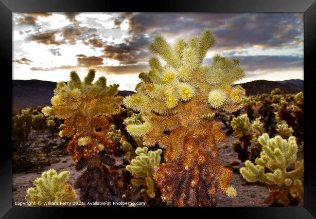
<svg viewBox="0 0 316 219"><path fill-rule="evenodd" d="M13 204L303 206L304 93L248 94L243 61L205 64L216 42L156 35L133 93L71 70L50 105L15 111Z"/></svg>

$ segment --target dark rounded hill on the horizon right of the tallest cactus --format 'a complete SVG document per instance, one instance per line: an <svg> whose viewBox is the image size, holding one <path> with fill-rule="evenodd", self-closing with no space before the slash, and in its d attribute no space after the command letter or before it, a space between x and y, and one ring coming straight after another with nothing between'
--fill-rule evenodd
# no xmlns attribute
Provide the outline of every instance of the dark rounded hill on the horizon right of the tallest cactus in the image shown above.
<svg viewBox="0 0 316 219"><path fill-rule="evenodd" d="M296 93L300 90L292 88L286 84L276 81L257 80L240 84L246 90L246 95L255 95L262 93L270 93L273 89L279 88L282 94Z"/></svg>

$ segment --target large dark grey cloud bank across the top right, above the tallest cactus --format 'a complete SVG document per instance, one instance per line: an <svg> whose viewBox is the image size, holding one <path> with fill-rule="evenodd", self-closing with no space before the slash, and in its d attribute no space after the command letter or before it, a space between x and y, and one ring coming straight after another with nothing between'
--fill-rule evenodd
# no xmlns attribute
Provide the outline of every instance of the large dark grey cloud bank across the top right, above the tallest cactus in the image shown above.
<svg viewBox="0 0 316 219"><path fill-rule="evenodd" d="M301 14L139 13L129 19L130 33L185 37L211 28L216 47L259 45L293 47L302 43Z"/></svg>

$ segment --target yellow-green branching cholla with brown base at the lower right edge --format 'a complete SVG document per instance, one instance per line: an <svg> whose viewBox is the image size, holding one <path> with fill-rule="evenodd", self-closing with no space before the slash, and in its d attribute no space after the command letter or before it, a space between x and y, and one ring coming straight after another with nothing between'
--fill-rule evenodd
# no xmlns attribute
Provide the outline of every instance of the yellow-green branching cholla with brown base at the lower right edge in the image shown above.
<svg viewBox="0 0 316 219"><path fill-rule="evenodd" d="M294 136L288 140L276 136L269 138L267 133L259 137L258 142L263 146L260 158L255 164L245 162L240 173L248 182L263 182L271 191L268 205L275 201L284 206L289 205L290 196L303 199L303 162L296 161L298 146ZM296 161L296 162L295 162ZM295 170L287 171L287 167L295 162ZM265 171L269 169L269 172Z"/></svg>

